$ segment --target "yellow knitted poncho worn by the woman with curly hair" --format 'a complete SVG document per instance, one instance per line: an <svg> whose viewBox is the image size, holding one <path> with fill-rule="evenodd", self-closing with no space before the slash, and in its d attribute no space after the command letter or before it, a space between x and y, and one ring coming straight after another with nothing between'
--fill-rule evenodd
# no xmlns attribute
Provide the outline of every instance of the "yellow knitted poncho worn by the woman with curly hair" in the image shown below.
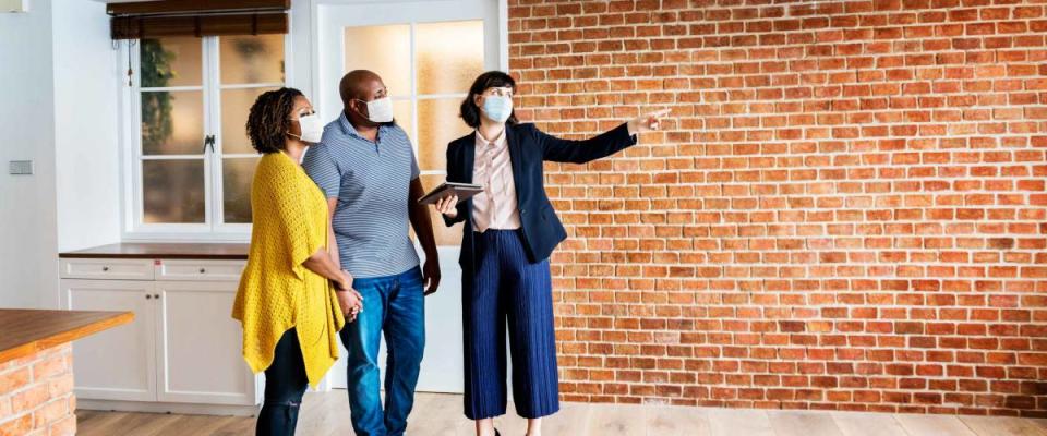
<svg viewBox="0 0 1047 436"><path fill-rule="evenodd" d="M265 371L276 342L294 327L315 387L338 359L345 325L327 279L302 266L327 246L327 202L298 162L270 153L255 170L251 211L251 250L232 306L243 325L243 359L255 373Z"/></svg>

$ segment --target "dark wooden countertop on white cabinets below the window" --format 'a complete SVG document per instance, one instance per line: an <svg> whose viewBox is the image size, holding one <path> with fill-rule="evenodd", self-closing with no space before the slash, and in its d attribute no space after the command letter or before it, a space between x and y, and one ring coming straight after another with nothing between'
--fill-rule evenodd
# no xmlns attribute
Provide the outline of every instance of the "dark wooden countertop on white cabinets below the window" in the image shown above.
<svg viewBox="0 0 1047 436"><path fill-rule="evenodd" d="M112 258L198 258L245 261L250 244L230 243L141 243L109 244L93 249L60 253L58 257L112 257Z"/></svg>

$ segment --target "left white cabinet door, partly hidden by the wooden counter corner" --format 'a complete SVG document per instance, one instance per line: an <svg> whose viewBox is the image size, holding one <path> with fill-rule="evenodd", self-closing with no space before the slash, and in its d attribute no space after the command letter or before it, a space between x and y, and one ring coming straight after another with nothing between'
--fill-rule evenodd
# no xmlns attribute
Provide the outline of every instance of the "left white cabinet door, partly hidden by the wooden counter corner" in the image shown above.
<svg viewBox="0 0 1047 436"><path fill-rule="evenodd" d="M134 320L73 342L76 397L156 400L156 305L153 282L61 280L62 306L77 311L131 311Z"/></svg>

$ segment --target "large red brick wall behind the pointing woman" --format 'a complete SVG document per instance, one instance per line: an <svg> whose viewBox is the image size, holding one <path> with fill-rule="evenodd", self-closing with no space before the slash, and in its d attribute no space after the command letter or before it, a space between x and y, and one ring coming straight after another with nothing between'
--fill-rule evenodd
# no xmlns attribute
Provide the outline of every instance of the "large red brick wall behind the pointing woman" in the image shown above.
<svg viewBox="0 0 1047 436"><path fill-rule="evenodd" d="M1047 415L1043 1L509 0L566 400Z"/></svg>

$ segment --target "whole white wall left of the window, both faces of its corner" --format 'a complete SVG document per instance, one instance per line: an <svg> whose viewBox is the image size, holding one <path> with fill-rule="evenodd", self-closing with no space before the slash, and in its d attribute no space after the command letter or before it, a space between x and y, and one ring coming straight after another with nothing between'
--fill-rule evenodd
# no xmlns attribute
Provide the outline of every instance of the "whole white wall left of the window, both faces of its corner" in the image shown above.
<svg viewBox="0 0 1047 436"><path fill-rule="evenodd" d="M58 253L119 240L115 57L105 4L0 13L0 307L56 307ZM8 161L33 160L33 175Z"/></svg>

